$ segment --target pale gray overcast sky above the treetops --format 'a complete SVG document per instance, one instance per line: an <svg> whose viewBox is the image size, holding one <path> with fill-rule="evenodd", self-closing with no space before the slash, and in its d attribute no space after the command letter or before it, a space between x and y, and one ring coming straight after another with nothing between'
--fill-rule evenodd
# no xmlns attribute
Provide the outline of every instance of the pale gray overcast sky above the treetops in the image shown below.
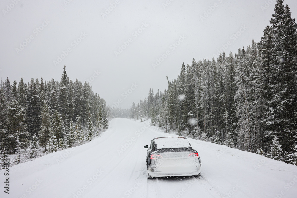
<svg viewBox="0 0 297 198"><path fill-rule="evenodd" d="M149 88L164 91L183 62L259 42L275 2L1 0L0 77L60 81L66 64L70 79L88 79L108 105L129 108ZM296 0L284 2L295 18Z"/></svg>

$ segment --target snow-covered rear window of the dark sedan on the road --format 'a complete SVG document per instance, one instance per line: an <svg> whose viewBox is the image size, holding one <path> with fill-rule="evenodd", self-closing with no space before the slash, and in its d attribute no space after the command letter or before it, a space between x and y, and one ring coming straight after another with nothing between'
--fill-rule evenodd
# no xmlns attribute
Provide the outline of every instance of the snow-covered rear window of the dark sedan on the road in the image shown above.
<svg viewBox="0 0 297 198"><path fill-rule="evenodd" d="M155 145L157 149L162 148L187 148L191 147L189 141L180 137L162 137L155 139Z"/></svg>

